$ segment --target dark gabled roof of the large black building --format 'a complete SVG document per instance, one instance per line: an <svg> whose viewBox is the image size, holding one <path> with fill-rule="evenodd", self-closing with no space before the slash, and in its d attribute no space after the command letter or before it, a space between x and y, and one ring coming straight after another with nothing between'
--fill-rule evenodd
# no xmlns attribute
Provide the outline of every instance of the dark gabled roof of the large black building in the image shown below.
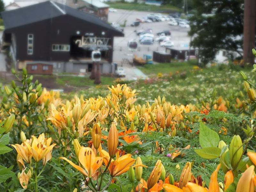
<svg viewBox="0 0 256 192"><path fill-rule="evenodd" d="M52 1L45 1L42 3L33 4L11 11L4 11L1 12L1 15L4 20L5 29L20 27L23 25L51 19L61 15L70 15L78 19L107 28L108 30L113 30L115 31L115 34L120 34L120 36L124 36L122 32L116 30L111 25L102 21L97 16L91 13L86 13Z"/></svg>

